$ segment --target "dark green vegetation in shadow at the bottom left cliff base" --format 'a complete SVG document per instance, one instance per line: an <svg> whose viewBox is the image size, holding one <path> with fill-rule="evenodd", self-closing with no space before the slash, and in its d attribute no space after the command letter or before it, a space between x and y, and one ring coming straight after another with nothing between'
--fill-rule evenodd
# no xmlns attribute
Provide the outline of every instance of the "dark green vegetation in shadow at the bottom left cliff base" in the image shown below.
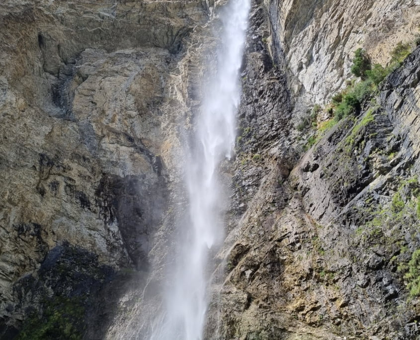
<svg viewBox="0 0 420 340"><path fill-rule="evenodd" d="M55 297L46 302L42 316L28 317L17 340L81 340L84 330L84 307L78 299Z"/></svg>

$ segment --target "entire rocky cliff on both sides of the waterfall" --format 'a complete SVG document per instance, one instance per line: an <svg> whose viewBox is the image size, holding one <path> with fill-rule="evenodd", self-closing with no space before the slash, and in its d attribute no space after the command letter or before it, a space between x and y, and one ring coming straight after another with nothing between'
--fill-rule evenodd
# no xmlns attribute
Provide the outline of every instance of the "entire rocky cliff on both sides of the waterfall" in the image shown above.
<svg viewBox="0 0 420 340"><path fill-rule="evenodd" d="M42 339L38 324L85 339L147 333L182 221L181 145L214 65L214 8L0 4L2 339ZM206 338L417 335L418 300L397 269L420 247L420 50L376 103L308 151L311 132L297 125L345 85L357 47L384 64L413 40L419 9L253 1L237 155L222 167L232 203L216 258L226 267Z"/></svg>

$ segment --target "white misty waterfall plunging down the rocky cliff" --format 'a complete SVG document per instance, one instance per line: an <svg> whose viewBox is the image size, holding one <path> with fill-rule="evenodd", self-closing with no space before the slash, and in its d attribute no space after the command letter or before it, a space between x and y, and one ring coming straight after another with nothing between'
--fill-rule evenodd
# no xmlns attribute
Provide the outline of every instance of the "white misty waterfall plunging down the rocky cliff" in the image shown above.
<svg viewBox="0 0 420 340"><path fill-rule="evenodd" d="M189 225L177 247L179 258L168 285L166 311L151 340L201 340L207 310L209 253L223 240L224 211L217 176L220 162L230 158L235 143L235 116L241 97L242 63L250 0L230 0L220 13L223 25L217 72L203 91L196 119L193 150L185 162Z"/></svg>

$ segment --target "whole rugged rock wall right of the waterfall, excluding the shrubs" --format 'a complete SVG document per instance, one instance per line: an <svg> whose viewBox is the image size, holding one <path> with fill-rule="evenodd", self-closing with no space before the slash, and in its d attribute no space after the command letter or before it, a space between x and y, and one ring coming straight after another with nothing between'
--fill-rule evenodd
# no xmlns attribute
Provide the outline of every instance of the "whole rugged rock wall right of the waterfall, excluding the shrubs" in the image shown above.
<svg viewBox="0 0 420 340"><path fill-rule="evenodd" d="M401 267L419 247L420 50L306 153L296 129L349 77L350 51L387 61L417 30L403 2L254 4L250 40L268 46L250 46L244 72L222 339L416 337Z"/></svg>

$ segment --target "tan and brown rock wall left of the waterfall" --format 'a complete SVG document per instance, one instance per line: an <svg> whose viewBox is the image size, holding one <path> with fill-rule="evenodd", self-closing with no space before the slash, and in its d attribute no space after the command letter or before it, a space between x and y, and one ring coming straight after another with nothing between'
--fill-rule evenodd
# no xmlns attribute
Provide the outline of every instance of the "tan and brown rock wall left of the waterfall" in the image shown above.
<svg viewBox="0 0 420 340"><path fill-rule="evenodd" d="M118 291L103 284L149 270L190 106L193 77L177 52L208 4L2 1L0 13L0 328L9 339L22 320L45 317L46 299L79 299L88 320L101 310L98 292Z"/></svg>

